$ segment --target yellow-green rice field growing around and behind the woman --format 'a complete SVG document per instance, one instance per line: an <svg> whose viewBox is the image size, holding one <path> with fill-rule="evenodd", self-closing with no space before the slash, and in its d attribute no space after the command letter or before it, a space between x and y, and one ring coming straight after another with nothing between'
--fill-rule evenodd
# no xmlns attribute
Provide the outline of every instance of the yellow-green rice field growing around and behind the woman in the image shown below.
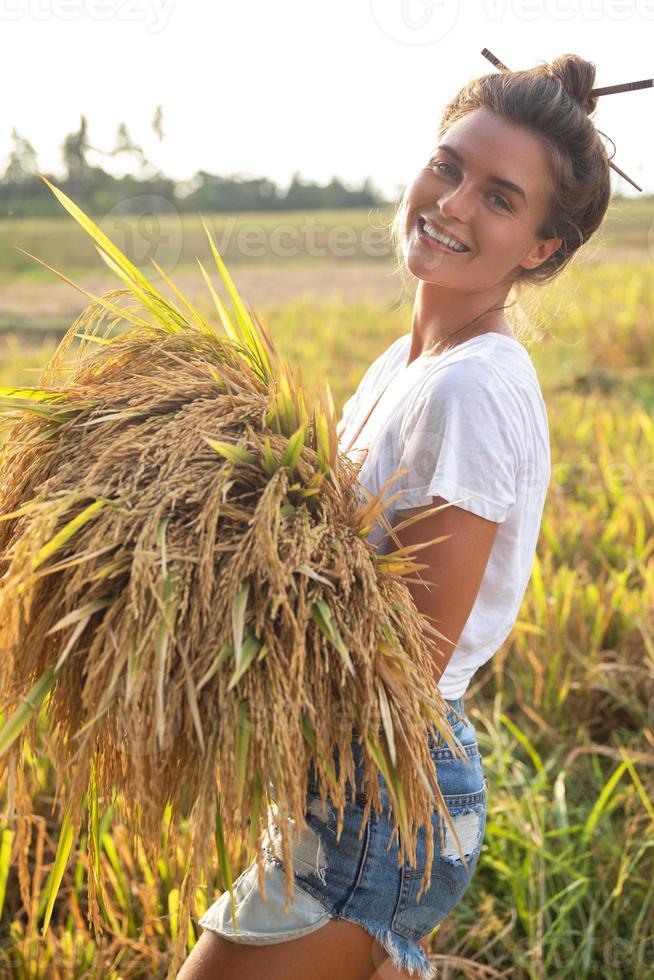
<svg viewBox="0 0 654 980"><path fill-rule="evenodd" d="M489 809L473 883L431 937L444 980L654 977L654 269L651 257L642 261L649 215L618 217L614 228L633 231L619 255L600 249L538 294L543 336L529 350L548 405L552 483L518 622L465 695ZM24 247L47 258L33 235ZM194 254L204 252L198 242ZM74 271L67 257L50 260ZM300 266L279 264L283 290L268 303L257 297L256 309L282 355L302 366L308 390L328 378L340 408L371 360L410 329L411 306L396 301L388 261L369 262L367 276L361 261L361 289L347 279L346 295L347 263L335 263L329 288L314 292ZM253 283L257 271L247 270ZM6 283L22 281L24 270L14 272L0 304ZM240 287L240 267L232 272ZM91 287L93 276L72 278ZM7 330L0 384L33 382L55 337ZM82 837L41 935L59 836L45 728L41 745L23 760L38 802L29 839L16 839L6 784L2 791L0 975L163 977L183 840L173 851L162 826L164 856L150 866L111 801L100 801L99 815L104 934L94 937L85 919ZM232 858L237 873L250 860ZM197 882L189 948L224 887L217 865Z"/></svg>

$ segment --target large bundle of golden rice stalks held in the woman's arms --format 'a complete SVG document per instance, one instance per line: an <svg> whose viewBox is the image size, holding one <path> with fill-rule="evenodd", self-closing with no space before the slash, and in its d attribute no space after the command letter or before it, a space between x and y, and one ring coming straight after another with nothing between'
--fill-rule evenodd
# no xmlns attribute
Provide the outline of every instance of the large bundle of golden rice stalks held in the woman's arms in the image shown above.
<svg viewBox="0 0 654 980"><path fill-rule="evenodd" d="M117 806L153 862L162 821L172 846L190 821L173 976L214 844L230 893L232 847L256 852L262 881L271 784L287 900L311 763L340 833L353 732L364 822L381 810L381 772L400 860L415 864L424 828L428 885L434 807L454 832L426 737L455 746L428 639L440 634L406 585L426 567L417 548L380 555L368 541L378 519L390 530L387 487L362 495L329 386L307 406L206 225L233 304L200 263L224 333L45 182L125 288L82 289L91 302L39 385L0 392L0 761L21 819L22 750L36 750L43 706L62 817L44 929L85 812L98 934L102 807Z"/></svg>

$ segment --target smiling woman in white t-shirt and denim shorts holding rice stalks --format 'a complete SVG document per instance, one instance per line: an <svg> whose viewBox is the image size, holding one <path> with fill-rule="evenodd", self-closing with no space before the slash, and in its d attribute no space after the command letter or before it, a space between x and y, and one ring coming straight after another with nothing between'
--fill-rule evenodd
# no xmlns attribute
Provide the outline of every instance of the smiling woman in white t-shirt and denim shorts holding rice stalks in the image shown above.
<svg viewBox="0 0 654 980"><path fill-rule="evenodd" d="M518 615L551 473L545 405L506 310L512 291L569 262L608 207L609 161L588 118L594 78L594 65L565 55L473 80L446 106L438 145L393 222L417 281L411 332L369 367L339 423L340 448L359 455L363 486L376 492L406 468L388 489L397 540L445 538L418 556L433 587L410 588L443 634L434 678L468 756L456 758L430 735L465 861L449 830L442 848L435 833L431 887L418 900L420 863L398 867L388 820L372 815L360 826L360 770L338 840L334 809L310 778L290 909L272 828L266 901L253 864L235 886L238 934L226 893L200 920L205 931L182 980L434 976L428 936L470 884L486 824L485 777L463 695ZM443 508L401 526L434 504ZM381 526L371 538L379 549L395 546Z"/></svg>

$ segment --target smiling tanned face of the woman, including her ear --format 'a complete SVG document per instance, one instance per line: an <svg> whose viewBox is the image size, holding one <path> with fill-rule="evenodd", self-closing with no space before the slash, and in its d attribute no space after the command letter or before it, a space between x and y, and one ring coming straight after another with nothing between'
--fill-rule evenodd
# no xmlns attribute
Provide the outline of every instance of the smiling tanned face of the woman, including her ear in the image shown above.
<svg viewBox="0 0 654 980"><path fill-rule="evenodd" d="M418 279L483 291L533 269L561 244L537 234L546 214L549 165L528 130L476 109L452 123L406 193L403 252ZM466 246L433 241L436 231Z"/></svg>

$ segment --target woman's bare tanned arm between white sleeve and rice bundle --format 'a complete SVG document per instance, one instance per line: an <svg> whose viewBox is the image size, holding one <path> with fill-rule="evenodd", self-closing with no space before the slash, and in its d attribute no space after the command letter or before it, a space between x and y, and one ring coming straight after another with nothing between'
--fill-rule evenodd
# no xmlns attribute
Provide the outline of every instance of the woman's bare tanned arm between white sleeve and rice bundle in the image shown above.
<svg viewBox="0 0 654 980"><path fill-rule="evenodd" d="M447 503L444 497L433 497L432 501L424 507L397 511L398 523ZM411 577L420 576L434 584L427 586L407 582L419 612L433 617L435 622L430 620L431 625L451 641L432 640L436 681L445 670L472 611L499 526L495 521L450 505L396 531L402 545L451 535L447 541L439 541L413 553L419 564L428 567Z"/></svg>

